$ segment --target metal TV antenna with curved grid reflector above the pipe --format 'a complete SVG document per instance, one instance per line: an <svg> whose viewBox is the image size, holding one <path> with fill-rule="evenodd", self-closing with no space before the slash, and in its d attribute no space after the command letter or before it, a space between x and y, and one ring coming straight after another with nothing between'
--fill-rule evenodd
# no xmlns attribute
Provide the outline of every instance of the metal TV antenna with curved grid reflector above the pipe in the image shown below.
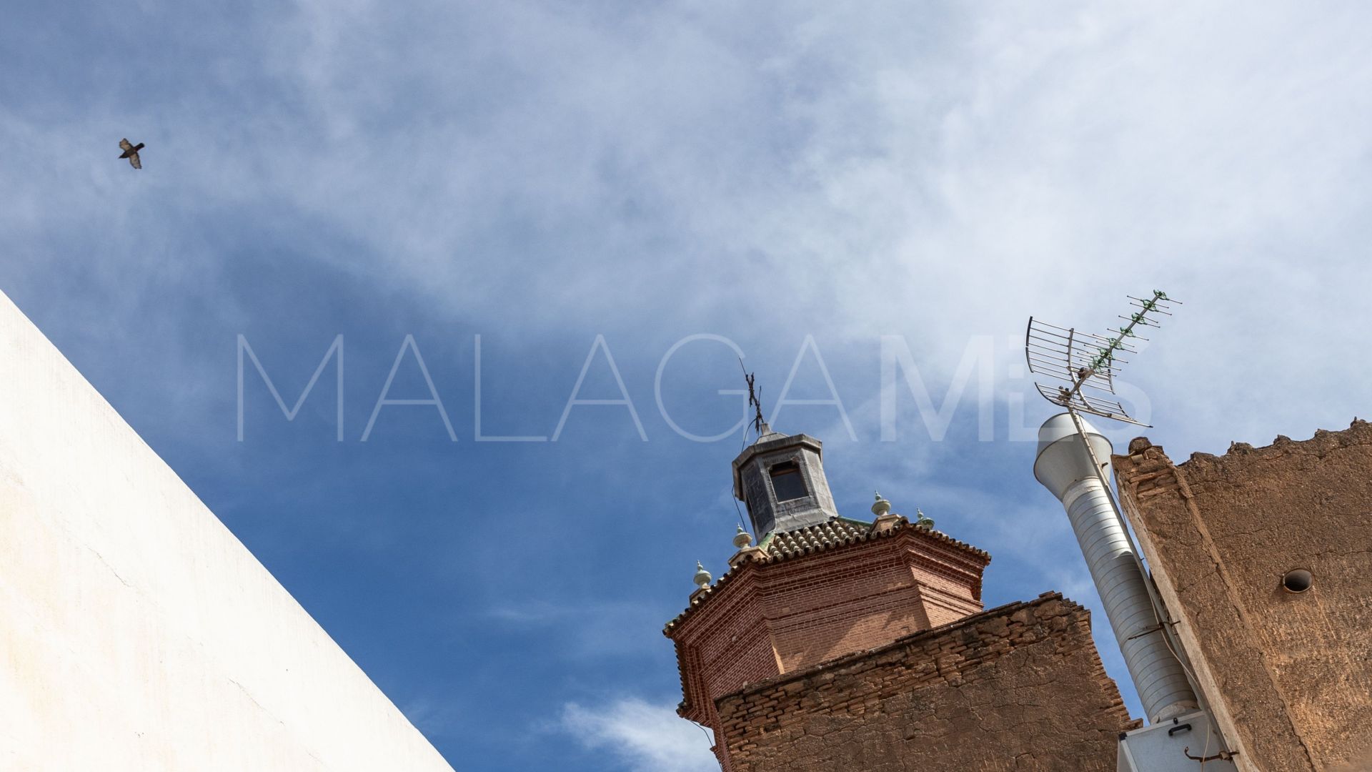
<svg viewBox="0 0 1372 772"><path fill-rule="evenodd" d="M1120 365L1128 364L1120 354L1135 353L1131 341L1147 341L1140 338L1135 328L1161 327L1159 315L1172 316L1172 304L1181 305L1181 301L1169 298L1162 290L1154 290L1151 298L1129 295L1131 308L1137 310L1121 316L1120 319L1128 324L1111 328L1109 337L1080 332L1073 327L1058 327L1030 316L1029 330L1025 332L1025 360L1029 363L1029 372L1067 383L1067 386L1045 386L1034 382L1039 393L1072 413L1084 412L1147 426L1129 418L1124 405L1109 396L1115 393L1114 376L1120 372Z"/></svg>

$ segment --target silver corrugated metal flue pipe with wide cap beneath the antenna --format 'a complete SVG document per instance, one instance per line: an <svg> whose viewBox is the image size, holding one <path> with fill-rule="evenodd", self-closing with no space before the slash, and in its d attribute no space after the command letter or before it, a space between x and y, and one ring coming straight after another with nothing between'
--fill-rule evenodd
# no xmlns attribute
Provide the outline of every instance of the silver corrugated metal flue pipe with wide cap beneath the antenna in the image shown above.
<svg viewBox="0 0 1372 772"><path fill-rule="evenodd" d="M1103 482L1110 474L1110 441L1085 420L1081 423L1089 451L1072 415L1044 422L1034 478L1067 511L1148 721L1196 710L1195 692L1162 637L1161 614L1154 611L1142 565ZM1095 468L1092 453L1102 468Z"/></svg>

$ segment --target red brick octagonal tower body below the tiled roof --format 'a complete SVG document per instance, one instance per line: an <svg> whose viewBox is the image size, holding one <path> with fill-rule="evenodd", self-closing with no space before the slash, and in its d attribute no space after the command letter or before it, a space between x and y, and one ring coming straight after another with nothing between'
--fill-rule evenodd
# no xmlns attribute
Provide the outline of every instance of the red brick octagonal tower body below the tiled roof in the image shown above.
<svg viewBox="0 0 1372 772"><path fill-rule="evenodd" d="M682 670L681 714L716 738L720 696L980 613L989 562L908 523L796 558L760 556L693 596L664 631Z"/></svg>

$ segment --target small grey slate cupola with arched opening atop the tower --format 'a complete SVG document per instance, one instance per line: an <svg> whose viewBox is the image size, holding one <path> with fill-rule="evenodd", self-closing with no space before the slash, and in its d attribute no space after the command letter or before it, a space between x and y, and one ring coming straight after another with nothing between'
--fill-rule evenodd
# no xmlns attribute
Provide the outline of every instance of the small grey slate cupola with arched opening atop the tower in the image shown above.
<svg viewBox="0 0 1372 772"><path fill-rule="evenodd" d="M734 496L748 506L759 543L777 530L838 516L825 479L822 448L808 434L781 434L764 423L757 441L734 459Z"/></svg>

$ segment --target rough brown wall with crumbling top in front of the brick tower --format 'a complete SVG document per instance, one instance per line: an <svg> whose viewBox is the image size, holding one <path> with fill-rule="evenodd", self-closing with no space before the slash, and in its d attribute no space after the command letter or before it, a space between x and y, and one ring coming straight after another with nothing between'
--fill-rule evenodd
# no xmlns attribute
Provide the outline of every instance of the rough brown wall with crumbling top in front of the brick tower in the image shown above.
<svg viewBox="0 0 1372 772"><path fill-rule="evenodd" d="M1089 611L1047 593L718 702L734 772L1113 772L1133 723Z"/></svg>

